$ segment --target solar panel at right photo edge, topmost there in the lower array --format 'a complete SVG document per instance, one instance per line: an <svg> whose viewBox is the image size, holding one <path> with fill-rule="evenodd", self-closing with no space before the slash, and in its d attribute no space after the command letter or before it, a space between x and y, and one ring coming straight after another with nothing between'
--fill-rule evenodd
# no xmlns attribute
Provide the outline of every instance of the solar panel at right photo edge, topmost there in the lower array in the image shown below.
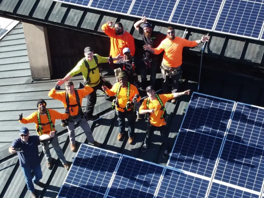
<svg viewBox="0 0 264 198"><path fill-rule="evenodd" d="M237 103L227 139L264 147L264 109Z"/></svg>

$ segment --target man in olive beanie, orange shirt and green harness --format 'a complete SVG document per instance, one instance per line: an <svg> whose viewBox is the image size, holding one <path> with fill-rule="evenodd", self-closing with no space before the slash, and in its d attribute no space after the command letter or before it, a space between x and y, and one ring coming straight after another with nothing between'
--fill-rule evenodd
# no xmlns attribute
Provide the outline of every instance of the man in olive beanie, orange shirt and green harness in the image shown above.
<svg viewBox="0 0 264 198"><path fill-rule="evenodd" d="M119 134L117 140L121 140L125 132L125 117L128 120L128 143L132 144L135 136L135 119L134 119L134 102L140 101L138 89L127 82L127 75L125 72L120 72L117 76L119 82L113 85L111 89L102 86L102 89L109 95L116 95L114 101L116 105L116 115L119 118Z"/></svg>

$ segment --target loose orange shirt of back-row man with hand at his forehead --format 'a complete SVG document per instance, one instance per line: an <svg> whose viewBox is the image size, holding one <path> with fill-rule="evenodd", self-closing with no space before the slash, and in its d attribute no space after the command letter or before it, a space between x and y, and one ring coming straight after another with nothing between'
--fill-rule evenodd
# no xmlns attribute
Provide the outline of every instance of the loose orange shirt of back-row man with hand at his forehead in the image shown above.
<svg viewBox="0 0 264 198"><path fill-rule="evenodd" d="M124 31L122 35L116 35L115 28L109 27L107 23L102 25L102 30L110 37L110 55L112 55L112 57L116 57L120 53L121 56L123 56L124 48L129 48L132 56L135 54L135 42L133 36L130 33Z"/></svg>

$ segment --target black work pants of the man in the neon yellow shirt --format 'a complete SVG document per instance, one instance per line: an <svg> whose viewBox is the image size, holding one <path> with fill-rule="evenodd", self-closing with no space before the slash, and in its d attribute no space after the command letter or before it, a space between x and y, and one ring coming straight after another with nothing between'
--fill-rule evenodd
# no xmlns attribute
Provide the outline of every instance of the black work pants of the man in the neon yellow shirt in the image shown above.
<svg viewBox="0 0 264 198"><path fill-rule="evenodd" d="M94 112L94 105L96 104L96 99L97 99L96 91L98 89L103 91L103 89L102 89L103 85L105 85L108 89L112 88L112 85L110 82L100 80L99 84L92 87L94 89L94 91L86 96L86 98L87 98L86 113L88 116L92 116L92 114Z"/></svg>

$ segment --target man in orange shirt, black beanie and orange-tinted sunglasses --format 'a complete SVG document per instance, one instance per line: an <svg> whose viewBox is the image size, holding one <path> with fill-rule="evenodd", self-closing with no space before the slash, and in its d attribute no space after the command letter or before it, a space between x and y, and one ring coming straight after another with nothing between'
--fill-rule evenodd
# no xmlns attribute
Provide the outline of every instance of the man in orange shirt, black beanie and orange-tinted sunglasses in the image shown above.
<svg viewBox="0 0 264 198"><path fill-rule="evenodd" d="M41 136L43 134L50 134L51 131L55 131L55 120L62 119L65 120L69 117L69 110L65 110L65 114L61 114L53 109L46 108L47 103L43 99L39 99L37 101L38 110L34 113L30 114L28 117L23 118L23 115L18 115L18 120L20 123L28 124L28 123L35 123L36 124L36 131L38 135ZM65 159L65 156L62 152L62 149L59 145L58 136L55 133L53 138L48 140L41 141L40 144L43 148L43 153L45 154L45 158L47 161L47 168L51 169L51 154L49 144L52 144L57 156L60 158L63 166L66 170L69 170L69 165Z"/></svg>

